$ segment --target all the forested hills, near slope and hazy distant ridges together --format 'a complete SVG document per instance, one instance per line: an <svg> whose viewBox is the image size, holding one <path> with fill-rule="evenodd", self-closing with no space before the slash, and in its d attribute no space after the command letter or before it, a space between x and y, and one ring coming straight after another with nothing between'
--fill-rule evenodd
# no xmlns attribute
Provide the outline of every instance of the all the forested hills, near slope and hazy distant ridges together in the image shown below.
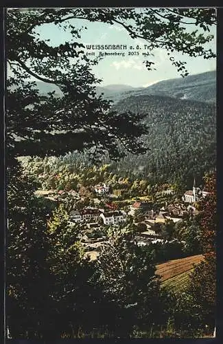
<svg viewBox="0 0 223 344"><path fill-rule="evenodd" d="M144 140L148 144L148 153L128 154L121 162L112 162L113 171L147 178L150 182L179 180L190 186L194 176L200 182L204 172L215 167L216 108L211 104L215 99L215 74L213 71L164 80L131 91L126 85L97 88L99 93L104 92L105 98L115 100L113 109L118 112L147 114L145 125L148 125L149 133ZM40 94L58 93L55 85L37 84ZM78 158L76 153L74 157ZM78 159L88 160L84 155ZM110 163L104 155L101 160Z"/></svg>

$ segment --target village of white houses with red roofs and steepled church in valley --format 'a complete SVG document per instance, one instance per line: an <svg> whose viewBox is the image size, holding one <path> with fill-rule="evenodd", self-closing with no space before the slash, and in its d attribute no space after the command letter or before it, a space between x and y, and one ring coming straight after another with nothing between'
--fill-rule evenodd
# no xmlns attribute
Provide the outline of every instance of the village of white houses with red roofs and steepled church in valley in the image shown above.
<svg viewBox="0 0 223 344"><path fill-rule="evenodd" d="M173 189L159 191L158 194L163 195L165 200L165 205L161 206L157 202L151 202L149 197L147 200L145 196L135 197L136 200L128 203L124 200L118 202L120 193L114 194L112 187L106 183L89 186L89 189L92 198L88 198L88 202L85 202L86 197L82 197L82 193L74 190L38 190L36 195L57 205L71 204L69 225L72 227L79 224L79 238L84 246L85 256L91 260L97 259L99 250L106 243L110 226L118 228L132 224L136 231L137 244L141 246L167 242L168 237L162 235L161 226L174 226L185 217L197 215L197 202L208 194L196 187L194 181L193 189L185 191L181 200L174 198L176 195Z"/></svg>

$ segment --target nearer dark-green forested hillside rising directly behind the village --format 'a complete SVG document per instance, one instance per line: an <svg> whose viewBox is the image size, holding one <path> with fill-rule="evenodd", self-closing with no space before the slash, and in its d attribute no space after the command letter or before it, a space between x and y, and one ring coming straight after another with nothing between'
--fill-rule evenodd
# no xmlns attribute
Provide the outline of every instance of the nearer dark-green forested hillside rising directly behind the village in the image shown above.
<svg viewBox="0 0 223 344"><path fill-rule="evenodd" d="M151 181L202 178L215 166L215 106L162 96L132 96L114 106L118 111L148 114L145 155L128 155L114 168L130 170Z"/></svg>

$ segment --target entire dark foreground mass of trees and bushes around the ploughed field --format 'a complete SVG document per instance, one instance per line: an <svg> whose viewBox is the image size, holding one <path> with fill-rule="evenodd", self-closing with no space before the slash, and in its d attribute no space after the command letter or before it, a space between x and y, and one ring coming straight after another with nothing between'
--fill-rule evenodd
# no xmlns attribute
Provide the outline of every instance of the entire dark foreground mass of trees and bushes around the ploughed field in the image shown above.
<svg viewBox="0 0 223 344"><path fill-rule="evenodd" d="M148 337L151 331L154 337L188 337L202 334L206 323L207 332L213 330L211 259L195 268L189 289L174 299L173 288L161 288L154 264L185 257L183 244L140 247L133 224L110 227L107 244L91 264L79 242L83 228L69 225L66 206L56 208L47 222L47 214L34 206L33 184L21 169L15 166L9 181L7 322L14 338L51 338L52 331L54 338L78 338L80 331L83 337L100 338ZM188 233L196 225L198 219L184 222ZM181 229L176 233L184 235Z"/></svg>

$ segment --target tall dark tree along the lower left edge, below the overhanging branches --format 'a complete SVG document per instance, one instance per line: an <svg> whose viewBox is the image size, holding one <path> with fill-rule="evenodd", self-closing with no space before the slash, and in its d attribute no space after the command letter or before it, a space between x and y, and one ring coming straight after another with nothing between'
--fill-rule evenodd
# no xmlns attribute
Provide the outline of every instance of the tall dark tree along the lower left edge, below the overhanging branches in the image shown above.
<svg viewBox="0 0 223 344"><path fill-rule="evenodd" d="M49 316L47 212L18 164L7 175L6 321L12 338L35 338L47 333Z"/></svg>

